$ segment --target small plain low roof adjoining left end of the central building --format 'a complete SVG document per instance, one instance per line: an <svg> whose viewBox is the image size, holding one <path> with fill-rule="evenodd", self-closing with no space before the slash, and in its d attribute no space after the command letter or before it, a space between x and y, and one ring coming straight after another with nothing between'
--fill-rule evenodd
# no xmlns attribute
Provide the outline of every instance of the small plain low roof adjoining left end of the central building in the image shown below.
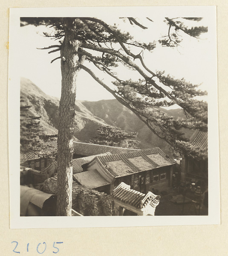
<svg viewBox="0 0 228 256"><path fill-rule="evenodd" d="M100 173L95 169L87 172L73 174L73 179L78 181L82 186L87 186L90 189L98 188L110 184Z"/></svg>

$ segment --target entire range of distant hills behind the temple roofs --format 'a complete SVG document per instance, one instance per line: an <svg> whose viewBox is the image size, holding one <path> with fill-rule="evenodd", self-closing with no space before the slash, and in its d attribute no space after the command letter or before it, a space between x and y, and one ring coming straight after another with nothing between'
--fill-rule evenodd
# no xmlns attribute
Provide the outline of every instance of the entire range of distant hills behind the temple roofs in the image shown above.
<svg viewBox="0 0 228 256"><path fill-rule="evenodd" d="M58 105L59 99L43 93L29 79L21 79L21 97L27 105L32 105L31 113L41 116L41 125L45 134L58 133ZM184 117L180 109L167 110L160 108L170 116ZM85 142L94 139L96 130L101 125L113 125L127 132L138 132L137 140L141 141L140 148L161 148L169 154L170 145L161 140L145 125L132 111L121 105L116 99L98 102L75 102L75 137ZM190 137L192 131L186 131Z"/></svg>

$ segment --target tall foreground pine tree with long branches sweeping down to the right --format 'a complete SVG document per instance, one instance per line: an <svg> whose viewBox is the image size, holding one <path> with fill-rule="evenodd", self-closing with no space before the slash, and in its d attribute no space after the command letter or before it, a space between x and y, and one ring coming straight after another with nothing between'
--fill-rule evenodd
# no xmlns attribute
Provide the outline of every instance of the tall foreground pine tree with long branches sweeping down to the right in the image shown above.
<svg viewBox="0 0 228 256"><path fill-rule="evenodd" d="M150 18L147 19L153 22ZM165 18L168 26L165 36L168 39L163 38L146 44L135 41L129 32L121 32L116 25L108 25L98 18L21 18L22 26L33 24L52 27L54 33L44 35L59 41L58 44L44 48L51 49L49 53L60 51L60 56L53 61L61 59L57 215L71 215L74 105L76 78L80 70L92 76L176 151L188 153L190 156L198 155L199 152L189 145L181 129L207 129L207 104L195 99L195 96L202 96L205 93L197 90L197 85L185 79L174 79L169 74L150 70L143 59L143 53L153 52L157 43L166 47L175 47L181 43L181 34L197 38L207 31L207 28L202 26L192 28L185 26L184 20L188 19ZM124 20L129 22L130 26L147 29L135 18L128 17ZM189 20L197 23L199 19ZM115 71L118 65L136 71L141 79L138 81L121 79L121 75ZM114 89L112 84L103 81L100 72L113 79ZM158 106L174 104L183 109L188 119L176 120L155 109Z"/></svg>

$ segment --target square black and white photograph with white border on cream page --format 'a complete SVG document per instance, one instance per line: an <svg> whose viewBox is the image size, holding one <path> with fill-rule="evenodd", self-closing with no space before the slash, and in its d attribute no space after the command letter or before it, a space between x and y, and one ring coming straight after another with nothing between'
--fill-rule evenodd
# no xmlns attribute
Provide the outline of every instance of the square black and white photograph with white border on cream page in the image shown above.
<svg viewBox="0 0 228 256"><path fill-rule="evenodd" d="M219 224L213 6L12 9L9 45L12 228Z"/></svg>

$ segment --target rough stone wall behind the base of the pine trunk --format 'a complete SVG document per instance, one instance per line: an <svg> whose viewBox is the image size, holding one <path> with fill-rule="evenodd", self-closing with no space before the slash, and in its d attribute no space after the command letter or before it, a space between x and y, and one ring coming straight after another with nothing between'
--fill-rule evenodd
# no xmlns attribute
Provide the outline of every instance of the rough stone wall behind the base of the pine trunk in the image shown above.
<svg viewBox="0 0 228 256"><path fill-rule="evenodd" d="M57 194L57 177L44 182L43 192ZM75 181L72 185L72 209L84 216L112 216L118 212L111 195L78 185Z"/></svg>

